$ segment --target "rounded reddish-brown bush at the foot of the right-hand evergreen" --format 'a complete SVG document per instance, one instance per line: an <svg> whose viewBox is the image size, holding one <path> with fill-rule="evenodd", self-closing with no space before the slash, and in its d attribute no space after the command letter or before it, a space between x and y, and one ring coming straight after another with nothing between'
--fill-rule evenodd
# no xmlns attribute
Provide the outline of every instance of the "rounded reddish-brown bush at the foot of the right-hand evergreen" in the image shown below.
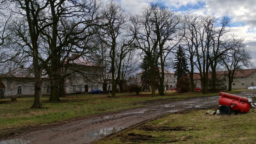
<svg viewBox="0 0 256 144"><path fill-rule="evenodd" d="M187 75L182 75L177 79L176 85L177 93L184 93L190 91L190 79Z"/></svg>

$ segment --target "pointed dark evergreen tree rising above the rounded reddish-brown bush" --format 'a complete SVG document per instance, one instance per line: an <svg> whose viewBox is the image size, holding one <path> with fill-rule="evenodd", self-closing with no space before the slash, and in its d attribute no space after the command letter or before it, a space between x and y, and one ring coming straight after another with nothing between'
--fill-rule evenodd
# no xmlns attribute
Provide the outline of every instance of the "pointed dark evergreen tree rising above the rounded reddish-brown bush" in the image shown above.
<svg viewBox="0 0 256 144"><path fill-rule="evenodd" d="M174 69L176 69L175 76L178 79L182 75L186 75L189 73L189 70L188 70L189 67L187 66L188 65L187 58L181 45L179 45L178 47L177 53L175 55L175 59L176 59L174 63Z"/></svg>

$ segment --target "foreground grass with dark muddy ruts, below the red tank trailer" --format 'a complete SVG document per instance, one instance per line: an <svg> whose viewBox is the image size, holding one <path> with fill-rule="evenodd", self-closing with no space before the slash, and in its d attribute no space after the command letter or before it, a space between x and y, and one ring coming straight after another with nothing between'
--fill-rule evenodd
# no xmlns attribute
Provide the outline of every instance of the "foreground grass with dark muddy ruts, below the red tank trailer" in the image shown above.
<svg viewBox="0 0 256 144"><path fill-rule="evenodd" d="M255 143L256 110L232 115L207 115L207 110L165 115L95 142L107 143Z"/></svg>

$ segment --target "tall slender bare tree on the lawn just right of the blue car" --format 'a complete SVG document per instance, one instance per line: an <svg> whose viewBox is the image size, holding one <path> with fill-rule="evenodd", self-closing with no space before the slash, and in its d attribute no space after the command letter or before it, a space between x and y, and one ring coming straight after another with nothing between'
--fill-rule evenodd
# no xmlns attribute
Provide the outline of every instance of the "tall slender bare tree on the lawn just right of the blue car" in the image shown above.
<svg viewBox="0 0 256 144"><path fill-rule="evenodd" d="M109 1L103 10L105 15L106 26L100 31L102 41L109 48L109 56L111 63L111 78L112 78L112 94L115 97L117 83L120 77L122 60L125 55L133 49L131 44L134 41L134 33L136 27L130 23L130 15L114 0ZM118 59L115 67L115 59ZM115 74L117 69L117 74ZM116 77L115 77L116 76Z"/></svg>

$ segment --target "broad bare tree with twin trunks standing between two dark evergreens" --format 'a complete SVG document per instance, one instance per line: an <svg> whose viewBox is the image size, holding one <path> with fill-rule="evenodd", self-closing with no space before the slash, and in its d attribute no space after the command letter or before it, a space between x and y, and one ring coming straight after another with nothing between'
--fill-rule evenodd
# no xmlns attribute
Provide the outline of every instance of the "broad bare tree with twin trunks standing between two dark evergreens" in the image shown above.
<svg viewBox="0 0 256 144"><path fill-rule="evenodd" d="M158 3L143 6L139 15L140 32L137 36L137 47L150 57L151 79L158 77L159 95L164 95L166 58L182 38L183 25L180 18L179 14ZM154 81L151 83L152 96L155 96L156 84Z"/></svg>

